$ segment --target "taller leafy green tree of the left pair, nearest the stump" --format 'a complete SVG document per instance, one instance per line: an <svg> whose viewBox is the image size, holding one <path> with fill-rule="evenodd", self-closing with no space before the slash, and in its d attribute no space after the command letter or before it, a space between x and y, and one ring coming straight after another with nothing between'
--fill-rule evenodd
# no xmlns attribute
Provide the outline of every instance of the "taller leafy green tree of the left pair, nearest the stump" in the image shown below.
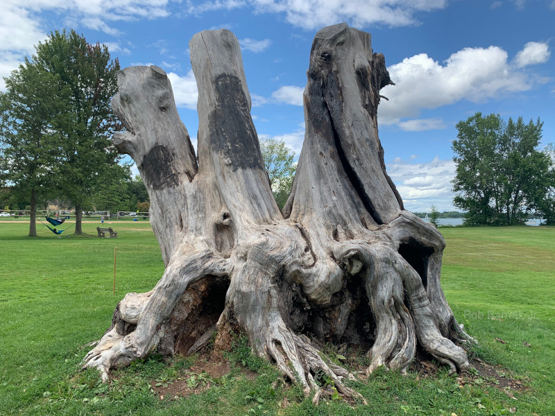
<svg viewBox="0 0 555 416"><path fill-rule="evenodd" d="M64 102L60 135L58 187L76 210L75 233L82 234L83 209L92 196L110 180L110 166L119 162L110 138L119 128L110 99L117 92L118 60L112 60L106 46L89 44L71 30L56 31L36 47L35 66L59 79L69 89Z"/></svg>

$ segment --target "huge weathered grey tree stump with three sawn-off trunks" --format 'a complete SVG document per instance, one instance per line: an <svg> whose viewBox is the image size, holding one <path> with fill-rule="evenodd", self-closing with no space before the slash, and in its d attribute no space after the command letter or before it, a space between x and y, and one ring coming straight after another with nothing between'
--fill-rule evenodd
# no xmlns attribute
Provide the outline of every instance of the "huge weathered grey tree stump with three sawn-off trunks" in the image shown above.
<svg viewBox="0 0 555 416"><path fill-rule="evenodd" d="M198 84L198 164L157 67L119 74L112 107L126 126L114 142L137 162L166 270L148 293L128 293L112 327L85 357L101 370L157 348L194 352L217 331L243 331L306 392L316 372L344 395L345 369L321 358L320 342L368 351L404 371L417 344L452 370L471 338L440 285L441 234L402 208L377 136L379 89L391 83L370 35L323 28L311 50L305 143L293 191L280 212L250 117L237 39L226 30L189 43ZM309 339L311 337L311 340ZM314 341L314 342L312 342Z"/></svg>

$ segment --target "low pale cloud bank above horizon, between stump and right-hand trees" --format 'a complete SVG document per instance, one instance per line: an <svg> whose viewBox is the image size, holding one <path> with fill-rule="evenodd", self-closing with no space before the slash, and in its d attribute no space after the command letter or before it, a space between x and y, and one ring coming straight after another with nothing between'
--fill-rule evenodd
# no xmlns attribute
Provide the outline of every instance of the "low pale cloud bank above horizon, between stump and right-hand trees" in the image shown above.
<svg viewBox="0 0 555 416"><path fill-rule="evenodd" d="M429 211L436 205L440 211L452 211L453 193L451 181L456 165L452 160L436 157L431 162L411 163L395 158L386 169L395 183L409 211Z"/></svg>

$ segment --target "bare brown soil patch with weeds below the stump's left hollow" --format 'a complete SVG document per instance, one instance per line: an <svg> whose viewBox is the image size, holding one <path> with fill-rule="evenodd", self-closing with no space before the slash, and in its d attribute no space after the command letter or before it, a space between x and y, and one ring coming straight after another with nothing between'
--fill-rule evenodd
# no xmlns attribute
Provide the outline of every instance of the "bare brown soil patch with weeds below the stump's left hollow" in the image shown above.
<svg viewBox="0 0 555 416"><path fill-rule="evenodd" d="M151 387L160 400L178 399L196 395L213 385L223 385L232 381L231 370L227 360L213 355L203 356L177 379L151 380ZM250 370L244 370L243 374L251 380L258 375Z"/></svg>

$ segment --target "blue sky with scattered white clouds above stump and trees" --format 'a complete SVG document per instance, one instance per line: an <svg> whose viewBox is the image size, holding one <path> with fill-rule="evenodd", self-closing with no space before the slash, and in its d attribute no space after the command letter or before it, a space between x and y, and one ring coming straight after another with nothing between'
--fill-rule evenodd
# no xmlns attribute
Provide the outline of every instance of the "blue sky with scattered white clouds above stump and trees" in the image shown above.
<svg viewBox="0 0 555 416"><path fill-rule="evenodd" d="M196 141L189 40L228 28L243 51L259 136L297 154L314 34L347 22L372 34L395 86L382 89L379 137L405 207L452 207L455 124L475 112L538 117L555 141L555 0L2 0L0 76L51 31L108 45L121 67L156 64ZM0 82L3 89L3 82Z"/></svg>

